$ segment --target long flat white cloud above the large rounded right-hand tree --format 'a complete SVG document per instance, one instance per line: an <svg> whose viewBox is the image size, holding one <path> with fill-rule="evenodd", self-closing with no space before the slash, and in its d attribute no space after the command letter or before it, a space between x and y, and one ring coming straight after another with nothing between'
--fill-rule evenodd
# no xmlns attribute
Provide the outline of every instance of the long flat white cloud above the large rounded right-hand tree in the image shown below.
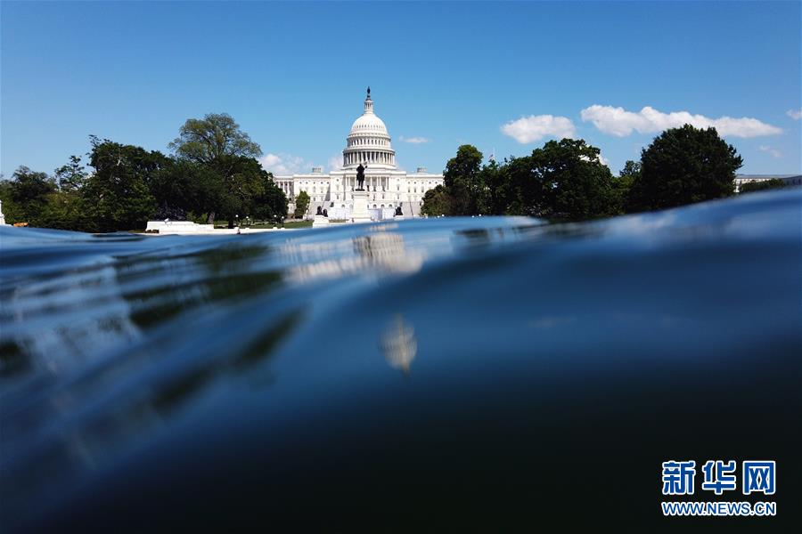
<svg viewBox="0 0 802 534"><path fill-rule="evenodd" d="M732 137L757 137L760 135L782 134L782 128L767 125L751 117L718 117L692 115L687 111L663 113L651 106L646 106L637 113L624 108L600 106L594 104L581 112L582 120L593 122L605 134L624 137L636 130L640 134L662 132L667 128L678 128L682 125L693 125L697 128L714 126L718 134Z"/></svg>

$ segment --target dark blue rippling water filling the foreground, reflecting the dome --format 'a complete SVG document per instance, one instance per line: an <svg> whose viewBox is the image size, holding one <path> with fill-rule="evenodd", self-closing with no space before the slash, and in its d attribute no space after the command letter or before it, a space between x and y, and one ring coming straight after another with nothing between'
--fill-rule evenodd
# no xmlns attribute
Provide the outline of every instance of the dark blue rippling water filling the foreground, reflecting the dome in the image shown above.
<svg viewBox="0 0 802 534"><path fill-rule="evenodd" d="M798 526L800 214L0 228L0 526ZM776 460L778 515L662 518L669 459Z"/></svg>

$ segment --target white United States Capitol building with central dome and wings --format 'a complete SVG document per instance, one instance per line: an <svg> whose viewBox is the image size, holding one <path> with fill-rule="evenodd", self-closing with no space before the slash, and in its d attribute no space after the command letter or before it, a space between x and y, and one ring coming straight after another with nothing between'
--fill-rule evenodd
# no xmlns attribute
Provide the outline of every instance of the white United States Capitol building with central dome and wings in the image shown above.
<svg viewBox="0 0 802 534"><path fill-rule="evenodd" d="M391 219L397 206L407 217L421 213L423 195L443 183L442 174L429 174L418 167L414 174L396 166L396 151L390 144L387 126L373 112L371 90L364 99L364 112L351 125L351 132L342 150L342 166L323 174L322 167L314 167L310 174L274 176L274 182L290 199L291 211L295 198L307 191L310 203L307 214L315 214L317 207L328 211L333 220L348 220L354 209L356 168L364 166L364 190L368 193L368 211L373 220Z"/></svg>

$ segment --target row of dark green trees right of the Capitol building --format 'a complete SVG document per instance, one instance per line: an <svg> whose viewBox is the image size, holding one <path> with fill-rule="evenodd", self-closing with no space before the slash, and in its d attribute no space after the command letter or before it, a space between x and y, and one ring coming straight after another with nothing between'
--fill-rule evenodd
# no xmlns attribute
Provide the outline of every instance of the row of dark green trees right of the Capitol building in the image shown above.
<svg viewBox="0 0 802 534"><path fill-rule="evenodd" d="M585 221L731 196L743 165L715 128L692 125L660 134L618 176L600 154L583 140L563 139L483 164L476 147L462 145L446 164L443 185L427 191L421 213Z"/></svg>

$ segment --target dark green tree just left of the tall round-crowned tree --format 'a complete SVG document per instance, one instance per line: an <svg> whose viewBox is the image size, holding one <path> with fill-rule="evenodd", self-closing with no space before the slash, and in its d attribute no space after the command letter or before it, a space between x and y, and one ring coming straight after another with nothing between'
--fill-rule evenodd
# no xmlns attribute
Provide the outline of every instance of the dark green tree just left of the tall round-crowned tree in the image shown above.
<svg viewBox="0 0 802 534"><path fill-rule="evenodd" d="M92 138L89 156L94 174L82 189L93 207L97 231L142 228L156 211L150 184L162 168L170 165L158 151Z"/></svg>

